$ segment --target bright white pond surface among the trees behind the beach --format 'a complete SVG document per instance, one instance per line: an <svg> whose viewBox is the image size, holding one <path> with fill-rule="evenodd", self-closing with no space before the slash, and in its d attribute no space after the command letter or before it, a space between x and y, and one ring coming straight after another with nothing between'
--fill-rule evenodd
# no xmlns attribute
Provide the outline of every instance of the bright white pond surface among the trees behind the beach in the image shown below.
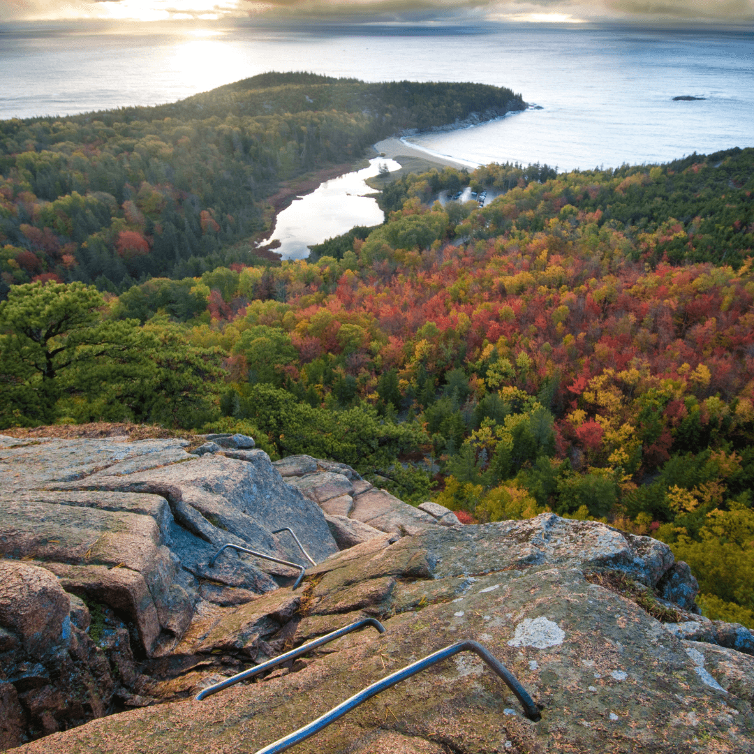
<svg viewBox="0 0 754 754"><path fill-rule="evenodd" d="M377 157L369 160L369 167L326 181L293 201L277 216L270 237L270 241L280 241L275 251L283 259L303 259L309 254L308 247L347 233L354 225L379 225L385 216L374 199L364 196L375 193L364 179L378 175L381 165L388 170L400 168L394 160Z"/></svg>

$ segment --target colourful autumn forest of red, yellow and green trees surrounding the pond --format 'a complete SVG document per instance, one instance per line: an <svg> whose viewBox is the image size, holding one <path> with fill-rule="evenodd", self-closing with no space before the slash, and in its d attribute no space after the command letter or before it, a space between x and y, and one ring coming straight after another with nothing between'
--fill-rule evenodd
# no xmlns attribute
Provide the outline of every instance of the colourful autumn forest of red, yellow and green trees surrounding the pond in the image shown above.
<svg viewBox="0 0 754 754"><path fill-rule="evenodd" d="M264 83L185 107L238 97L241 108ZM305 119L352 129L354 156L375 121L239 111L260 129L254 155L274 155L265 163L249 156L251 121L239 121L237 159L228 119L168 136L188 127L157 111L153 127L135 110L109 125L0 124L0 428L242 431L272 458L344 461L465 523L545 510L604 520L666 541L700 581L706 615L754 627L754 149L410 175L382 193L384 224L269 262L231 251L285 174L276 129L303 119L295 173ZM347 151L312 144L313 160ZM200 155L213 170L198 170ZM160 165L161 179L149 172ZM259 191L248 225L221 214L244 181ZM461 185L502 193L482 208L445 201ZM188 234L161 245L189 219L201 248L182 247ZM103 284L87 268L97 249L133 274Z"/></svg>

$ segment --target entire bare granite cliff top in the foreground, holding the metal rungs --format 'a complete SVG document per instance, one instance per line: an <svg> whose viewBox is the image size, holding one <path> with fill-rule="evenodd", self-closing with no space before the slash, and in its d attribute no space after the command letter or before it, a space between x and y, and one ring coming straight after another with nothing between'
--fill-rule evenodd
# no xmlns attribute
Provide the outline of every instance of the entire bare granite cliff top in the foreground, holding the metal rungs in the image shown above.
<svg viewBox="0 0 754 754"><path fill-rule="evenodd" d="M532 694L541 721L523 716L476 655L460 654L296 751L754 752L751 633L694 614L696 584L665 544L551 513L448 526L446 511L406 506L340 464L308 457L270 464L255 449L211 441L217 449L201 457L176 441L149 452L111 443L135 446L117 454L86 446L78 457L55 443L0 449L10 480L0 499L8 511L0 563L18 574L14 583L28 585L23 604L48 605L41 611L50 615L40 626L8 615L8 590L0 592L0 663L26 657L44 670L48 655L39 652L72 656L68 625L93 645L81 672L95 682L97 662L108 665L92 697L103 713L126 710L63 731L97 714L67 722L55 713L45 723L51 697L27 700L17 675L0 664L3 746L57 725L60 732L20 751L254 752L388 673L474 639ZM60 453L69 450L66 466ZM57 463L44 460L50 454ZM23 471L14 456L24 459ZM292 528L318 562L298 589L287 585L289 569L251 557L224 554L209 569L225 541L305 562L287 532L272 534L294 515L303 523ZM100 621L97 642L81 628L89 611L71 592ZM351 633L257 682L192 698L366 616L387 632ZM57 677L49 678L53 694Z"/></svg>

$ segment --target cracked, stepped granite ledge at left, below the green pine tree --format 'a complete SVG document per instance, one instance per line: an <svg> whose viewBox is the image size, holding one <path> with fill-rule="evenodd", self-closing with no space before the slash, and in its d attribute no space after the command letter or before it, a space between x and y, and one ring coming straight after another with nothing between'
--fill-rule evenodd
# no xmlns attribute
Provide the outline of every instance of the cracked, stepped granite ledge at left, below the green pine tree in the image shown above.
<svg viewBox="0 0 754 754"><path fill-rule="evenodd" d="M327 485L355 499L371 489L343 464L310 458L302 466L299 458L276 467L243 435L210 435L195 448L186 440L127 440L0 437L2 564L6 571L23 564L29 579L35 575L35 587L25 590L20 577L9 578L8 607L0 602L2 748L185 696L207 675L201 669L225 673L238 667L239 654L253 660L273 651L265 638L290 621L300 599L280 587L299 572L232 550L210 567L222 545L307 566L286 527L317 561L382 535L320 506L331 499ZM304 492L278 471L293 464L296 481L308 480ZM387 493L374 495L385 495L401 520L434 523ZM14 608L11 596L22 593L31 595L33 611ZM259 601L266 593L269 604ZM80 598L97 611L96 642ZM39 622L39 614L48 619ZM73 616L67 643L58 636L63 614ZM83 664L83 676L66 680L51 671L51 647ZM43 691L32 694L29 685Z"/></svg>

